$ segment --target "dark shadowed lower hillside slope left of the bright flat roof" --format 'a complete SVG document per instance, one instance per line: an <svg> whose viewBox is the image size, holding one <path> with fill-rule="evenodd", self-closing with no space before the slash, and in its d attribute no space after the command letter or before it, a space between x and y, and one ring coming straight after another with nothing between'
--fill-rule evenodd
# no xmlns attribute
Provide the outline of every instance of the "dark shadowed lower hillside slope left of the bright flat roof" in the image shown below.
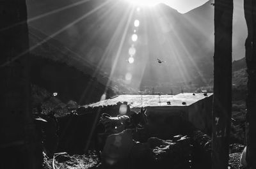
<svg viewBox="0 0 256 169"><path fill-rule="evenodd" d="M29 45L40 43L46 37L40 31L29 27ZM106 97L115 92L93 77L93 66L82 61L76 53L59 41L50 39L30 52L31 82L49 92L58 92L61 101L70 99L79 104L99 101L106 91Z"/></svg>

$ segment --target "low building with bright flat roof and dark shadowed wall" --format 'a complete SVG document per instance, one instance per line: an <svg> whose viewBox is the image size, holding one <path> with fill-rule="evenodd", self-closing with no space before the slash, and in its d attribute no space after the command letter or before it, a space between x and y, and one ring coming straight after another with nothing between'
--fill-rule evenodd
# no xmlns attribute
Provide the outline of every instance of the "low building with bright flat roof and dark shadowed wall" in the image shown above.
<svg viewBox="0 0 256 169"><path fill-rule="evenodd" d="M186 134L194 128L210 134L212 96L212 93L206 92L177 95L123 94L86 107L102 107L102 110L111 107L110 110L115 111L124 102L129 105L128 110L137 112L141 107L147 107L149 135L170 138L170 135Z"/></svg>

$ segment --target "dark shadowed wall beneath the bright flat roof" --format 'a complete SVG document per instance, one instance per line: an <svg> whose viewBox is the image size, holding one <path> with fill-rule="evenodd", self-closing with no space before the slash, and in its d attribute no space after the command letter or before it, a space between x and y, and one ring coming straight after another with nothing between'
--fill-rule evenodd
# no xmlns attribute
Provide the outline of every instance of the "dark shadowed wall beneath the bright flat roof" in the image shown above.
<svg viewBox="0 0 256 169"><path fill-rule="evenodd" d="M173 135L188 135L193 129L211 133L212 96L189 106L147 107L149 136L170 139Z"/></svg>

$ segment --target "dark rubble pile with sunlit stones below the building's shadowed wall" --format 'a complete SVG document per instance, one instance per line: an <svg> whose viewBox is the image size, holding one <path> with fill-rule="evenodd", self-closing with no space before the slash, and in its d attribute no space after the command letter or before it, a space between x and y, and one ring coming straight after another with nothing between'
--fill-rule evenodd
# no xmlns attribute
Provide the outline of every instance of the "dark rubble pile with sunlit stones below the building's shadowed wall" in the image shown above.
<svg viewBox="0 0 256 169"><path fill-rule="evenodd" d="M176 140L175 140L176 139ZM151 137L147 142L134 141L129 152L129 158L117 165L105 166L100 164L96 168L190 168L192 145L188 136L179 135L172 140L162 140Z"/></svg>

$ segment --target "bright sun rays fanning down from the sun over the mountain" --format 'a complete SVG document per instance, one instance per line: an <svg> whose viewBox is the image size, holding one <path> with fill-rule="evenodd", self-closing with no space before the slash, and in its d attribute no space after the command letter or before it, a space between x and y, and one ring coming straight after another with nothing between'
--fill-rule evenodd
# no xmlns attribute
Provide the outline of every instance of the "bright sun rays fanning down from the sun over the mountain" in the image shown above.
<svg viewBox="0 0 256 169"><path fill-rule="evenodd" d="M49 17L51 15L54 15L55 13L59 13L64 10L68 10L70 8L73 8L75 6L81 5L83 3L87 3L88 0L79 1L74 4L70 4L68 6L64 6L62 8L58 8L53 11L49 11L47 13L44 13L42 15L38 15L33 18L29 18L28 22L33 22L36 20L40 20L40 18ZM102 9L104 6L106 7L106 4L109 4L111 2L111 5L108 6L108 8ZM111 35L110 40L108 40L108 45L106 47L102 47L102 52L99 53L99 58L96 60L96 62L93 64L95 66L95 70L93 71L92 77L98 77L102 71L106 71L106 69L109 69L109 75L107 75L106 79L106 89L104 90L104 94L108 91L109 88L113 87L111 85L112 81L116 81L118 78L117 76L122 74L122 78L125 80L125 75L129 73L129 80L131 83L126 84L130 85L130 87L139 90L141 86L141 82L143 81L143 76L147 74L145 72L148 68L148 62L155 61L157 57L157 54L162 55L164 58L163 60L166 61L166 66L159 66L159 64L150 63L149 67L152 69L152 72L154 71L154 76L161 77L162 73L161 71L167 72L164 77L168 78L169 82L173 81L174 74L179 76L181 81L186 81L190 77L189 70L190 68L193 68L193 70L198 73L199 77L202 79L202 81L205 82L204 76L202 75L201 71L198 69L198 66L196 65L195 61L193 60L193 56L190 54L188 46L184 43L184 37L185 35L180 35L178 32L179 30L175 30L172 27L172 16L165 16L163 12L161 12L161 9L159 9L157 6L154 8L150 8L150 10L145 13L145 9L143 10L143 7L140 8L140 10L137 10L138 6L134 5L127 5L127 8L125 11L123 11L122 16L115 16L116 8L118 8L118 5L124 5L120 4L120 1L104 1L102 4L98 4L98 6L95 6L92 10L88 11L87 13L84 13L81 17L76 18L72 22L68 23L67 25L61 27L58 31L55 33L50 34L47 38L40 41L36 45L33 45L29 48L29 50L33 50L39 45L42 45L43 43L47 42L51 38L54 38L58 36L59 34L63 33L64 31L67 31L70 29L70 27L74 26L75 24L78 24L85 18L89 17L93 13L100 11L100 15L97 17L97 19L93 20L93 23L91 23L91 33L89 40L81 41L81 48L89 48L90 46L88 43L95 43L95 39L99 39L99 36L104 34L105 29L109 29L109 25L116 24L115 30L113 30L113 35ZM146 7L145 7L146 8ZM124 9L124 8L123 8ZM140 16L134 15L134 13L140 13ZM151 12L151 13L150 13ZM159 17L162 17L162 20L159 20ZM168 18L170 17L170 18ZM141 20L142 19L142 20ZM151 20L150 20L151 19ZM134 20L136 20L136 25L134 25ZM191 26L193 29L198 29L198 32L202 33L202 36L207 36L207 32L204 31L204 29L198 27L191 18L186 18L184 15L184 20L186 23L184 26ZM148 22L150 22L152 25L148 25ZM204 20L204 22L206 22ZM209 21L210 22L210 21ZM17 26L19 24L22 24L22 22L17 23L13 26ZM97 27L97 25L100 25L99 29L94 29ZM140 27L136 29L136 32L131 29L131 25L134 25L135 27ZM10 29L13 26L4 27L3 29L0 29L0 31L4 31L6 29ZM148 31L150 29L150 31ZM154 29L154 31L152 31ZM171 32L171 33L170 33ZM132 56L132 59L134 59L134 64L125 64L122 62L122 59L124 57L129 56L128 51L126 51L127 48L129 48L129 39L131 38L131 34L136 33L138 36L136 37L136 40L133 41L133 43L136 43L136 54L134 57ZM154 33L154 34L152 34ZM157 37L156 40L153 40L150 38L150 36ZM188 38L189 39L189 38ZM79 42L80 43L80 42ZM96 42L97 43L97 42ZM158 43L158 44L157 44ZM191 43L196 43L196 41L193 41L191 39ZM128 45L127 45L128 44ZM154 44L154 45L152 45ZM157 44L157 45L156 45ZM97 47L97 44L95 45ZM22 52L21 54L13 57L12 61L19 58L20 56L27 54L29 50L26 50ZM127 53L127 54L126 54ZM191 64L191 66L188 68L186 64L184 63L184 55L187 58L187 62ZM77 57L80 57L80 59L83 59L84 62L87 62L87 57L89 57L87 54L82 55L81 53L77 54ZM92 54L93 57L93 54ZM8 61L1 65L1 67L6 66L8 63L12 62ZM125 59L124 59L125 61ZM92 64L92 63L90 63ZM111 66L110 66L111 65ZM175 66L177 73L168 73L170 71L170 66ZM118 73L119 71L122 71L122 73ZM168 81L165 79L165 81ZM86 96L86 93L90 90L90 87L92 87L93 84L88 84L84 92L81 94L81 99L79 102L83 100L83 98Z"/></svg>

